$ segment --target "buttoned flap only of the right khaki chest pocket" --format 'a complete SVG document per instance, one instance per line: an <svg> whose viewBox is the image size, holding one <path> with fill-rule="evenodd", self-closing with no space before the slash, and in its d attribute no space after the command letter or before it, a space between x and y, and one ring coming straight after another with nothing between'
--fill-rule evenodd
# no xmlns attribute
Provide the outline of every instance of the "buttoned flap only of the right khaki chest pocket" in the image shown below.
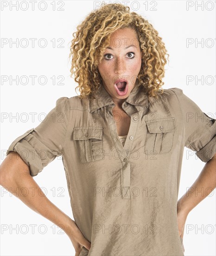
<svg viewBox="0 0 216 256"><path fill-rule="evenodd" d="M168 133L175 130L175 118L160 118L154 121L146 121L150 133Z"/></svg>

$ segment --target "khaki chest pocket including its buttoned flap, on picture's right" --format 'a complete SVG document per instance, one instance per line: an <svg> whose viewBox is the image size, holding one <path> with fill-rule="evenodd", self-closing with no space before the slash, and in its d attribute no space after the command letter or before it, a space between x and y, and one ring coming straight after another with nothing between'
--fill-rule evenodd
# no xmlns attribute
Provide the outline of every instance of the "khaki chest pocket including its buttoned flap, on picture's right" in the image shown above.
<svg viewBox="0 0 216 256"><path fill-rule="evenodd" d="M164 154L171 151L175 132L174 122L174 117L165 117L154 121L146 121L146 155Z"/></svg>

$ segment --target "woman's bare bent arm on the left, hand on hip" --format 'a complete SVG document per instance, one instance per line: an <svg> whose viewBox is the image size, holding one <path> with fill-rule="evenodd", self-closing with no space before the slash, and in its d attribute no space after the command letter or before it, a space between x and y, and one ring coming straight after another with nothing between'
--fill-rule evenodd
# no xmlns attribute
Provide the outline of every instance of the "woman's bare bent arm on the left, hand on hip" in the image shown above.
<svg viewBox="0 0 216 256"><path fill-rule="evenodd" d="M76 255L82 249L82 246L90 249L90 243L85 239L82 232L76 226L76 223L57 206L55 206L39 188L38 184L30 175L29 166L23 161L17 152L10 152L0 165L0 185L17 195L29 208L44 216L69 236L75 250ZM20 189L29 189L28 195L20 195ZM11 189L10 189L11 188ZM16 192L15 192L16 191Z"/></svg>

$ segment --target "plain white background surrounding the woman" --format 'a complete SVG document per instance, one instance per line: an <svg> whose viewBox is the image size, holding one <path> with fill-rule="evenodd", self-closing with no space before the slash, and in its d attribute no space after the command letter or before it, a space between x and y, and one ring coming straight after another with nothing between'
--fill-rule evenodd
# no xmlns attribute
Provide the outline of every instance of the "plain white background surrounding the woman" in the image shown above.
<svg viewBox="0 0 216 256"><path fill-rule="evenodd" d="M1 8L3 2L10 5L10 2L15 4L16 1L1 1ZM15 138L39 125L40 113L48 114L60 97L70 98L77 95L75 92L77 84L73 78L70 78L70 60L68 58L70 41L73 38L72 33L76 31L76 26L86 15L94 10L94 4L97 6L100 4L99 1L89 0L55 1L56 9L61 7L61 2L64 3L62 7L64 11L54 11L53 5L51 5L53 1L46 1L47 9L41 11L38 9L40 1L37 1L34 10L32 10L30 2L27 1L29 8L23 11L20 9L20 3L25 1L18 2L18 10L13 7L11 11L9 6L1 9L1 40L15 41L18 38L19 41L27 39L31 43L30 38L37 38L36 45L32 47L30 44L25 48L20 45L16 47L13 44L10 47L9 43L3 45L1 41L1 80L3 76L15 78L16 75L19 77L36 75L38 79L39 76L45 75L48 81L45 85L39 85L37 79L35 85L32 85L31 81L27 85L20 83L16 85L14 81L11 84L10 81L1 81L1 162L6 156L6 149ZM139 2L140 8L138 8L137 2ZM197 5L202 5L202 2L203 7L197 7ZM126 5L126 3L123 4ZM192 5L188 10L187 4ZM131 7L131 11L139 13L152 23L165 42L168 54L170 54L170 63L165 67L163 88L183 89L184 94L197 103L203 112L216 119L215 5L215 1L184 0L130 1L127 3L127 6ZM25 8L25 3L21 7ZM43 8L44 5L41 4L41 7ZM38 40L41 38L47 40L47 47L38 47ZM64 39L63 48L53 47L51 44L53 38L56 41L59 38ZM196 47L194 42L187 47L188 38L199 42L203 39L204 45L198 44ZM64 84L53 85L50 77L54 75L56 77L64 76ZM195 76L198 79L201 79L202 76L204 79L211 76L214 81L210 84L210 79L203 83L202 81L196 83L194 80L187 84L186 77L189 75L194 79ZM26 113L25 116L21 116L22 113ZM35 120L32 120L30 113L37 113ZM10 120L6 115L18 115L18 119ZM29 119L25 121L26 116ZM23 117L23 121L20 120L21 117ZM178 198L196 180L205 164L197 159L195 152L189 159L187 159L186 153L187 148L184 151ZM34 179L40 187L46 188L46 195L51 202L73 219L62 160L56 159L51 162ZM62 190L58 191L58 188L64 190L62 194L60 193ZM32 211L14 195L9 192L4 194L2 187L0 189L0 254L2 256L75 255L72 243L63 230ZM53 190L56 192L55 195ZM216 255L215 192L216 190L212 192L212 196L209 195L189 213L183 238L185 256ZM31 224L36 225L34 234ZM13 228L18 225L17 231L10 229L10 225ZM21 229L21 225L24 225L23 229ZM40 225L47 227L44 234L44 228L42 226L40 229ZM52 229L51 226L55 229ZM8 229L3 230L5 227ZM26 231L25 227L29 230ZM192 230L187 231L190 227ZM197 228L198 230L196 230Z"/></svg>

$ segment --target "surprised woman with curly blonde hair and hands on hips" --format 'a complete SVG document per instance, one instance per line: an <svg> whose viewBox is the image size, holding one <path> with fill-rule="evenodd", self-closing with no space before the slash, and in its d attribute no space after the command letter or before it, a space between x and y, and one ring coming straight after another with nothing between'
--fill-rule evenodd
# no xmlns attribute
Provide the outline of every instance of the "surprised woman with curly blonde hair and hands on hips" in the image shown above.
<svg viewBox="0 0 216 256"><path fill-rule="evenodd" d="M215 119L181 89L161 88L165 45L129 7L90 13L70 50L80 96L59 98L12 142L1 185L35 186L32 177L62 155L75 221L45 196L22 200L62 225L76 256L184 255L187 215L203 200L194 192L177 202L184 146L206 162L192 186L215 188Z"/></svg>

